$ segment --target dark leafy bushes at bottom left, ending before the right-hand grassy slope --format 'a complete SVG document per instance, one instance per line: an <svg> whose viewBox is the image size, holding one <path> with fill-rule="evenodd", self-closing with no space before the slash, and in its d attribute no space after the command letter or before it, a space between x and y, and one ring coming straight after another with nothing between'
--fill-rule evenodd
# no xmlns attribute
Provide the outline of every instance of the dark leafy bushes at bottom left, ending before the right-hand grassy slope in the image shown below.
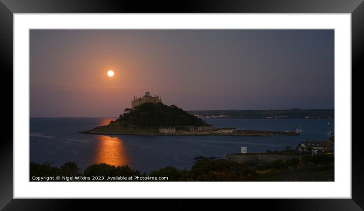
<svg viewBox="0 0 364 211"><path fill-rule="evenodd" d="M54 167L51 163L31 163L30 178L60 176L57 181L149 181L148 177L168 177L168 180L161 181L256 181L257 177L254 170L247 165L232 163L226 160L203 159L195 163L191 170L180 170L172 166L167 166L159 170L151 171L149 174L133 170L129 166L112 166L105 163L88 166L83 172L77 167L76 163L67 162L64 165ZM64 179L63 176L67 176ZM79 179L82 176L84 178ZM76 177L76 179L75 179ZM103 180L95 179L103 177ZM116 178L115 178L116 177ZM119 178L124 177L124 178ZM145 180L135 180L135 177L144 177ZM131 178L131 179L129 179ZM55 180L53 180L55 181ZM150 180L157 181L157 180Z"/></svg>

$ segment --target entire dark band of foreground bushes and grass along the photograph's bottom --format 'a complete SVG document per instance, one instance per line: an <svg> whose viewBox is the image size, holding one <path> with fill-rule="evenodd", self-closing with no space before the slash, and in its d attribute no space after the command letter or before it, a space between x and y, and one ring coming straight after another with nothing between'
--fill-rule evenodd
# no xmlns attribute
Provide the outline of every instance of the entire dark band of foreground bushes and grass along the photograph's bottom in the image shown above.
<svg viewBox="0 0 364 211"><path fill-rule="evenodd" d="M286 181L291 180L290 177L293 176L295 181L327 181L327 178L331 181L334 177L333 161L332 155L316 155L249 167L224 159L204 158L196 161L191 170L167 166L149 174L129 166L112 166L105 163L90 165L81 171L74 162L67 162L60 167L54 167L52 163L31 162L30 181L39 181L34 177L56 176L60 176L60 179L49 181ZM315 172L317 175L322 174L322 177L316 177L317 175L313 174ZM310 179L309 175L315 177ZM153 179L165 177L168 179Z"/></svg>

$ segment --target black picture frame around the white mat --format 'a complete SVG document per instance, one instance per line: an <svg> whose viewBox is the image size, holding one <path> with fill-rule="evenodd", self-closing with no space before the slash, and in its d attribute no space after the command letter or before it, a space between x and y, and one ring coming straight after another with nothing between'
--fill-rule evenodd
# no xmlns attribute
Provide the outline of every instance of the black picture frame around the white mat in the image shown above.
<svg viewBox="0 0 364 211"><path fill-rule="evenodd" d="M114 1L114 0L0 0L0 64L2 74L3 138L0 146L0 209L4 210L64 210L86 209L104 204L103 209L119 200L76 200L76 199L13 199L13 13L350 13L352 30L352 82L364 60L364 3L363 0L194 0L194 1ZM352 83L353 84L353 83ZM355 83L357 84L357 83ZM11 87L11 88L10 88ZM352 94L359 93L352 87ZM353 103L353 99L352 102ZM363 105L352 105L352 113L359 119ZM352 131L360 131L360 124L352 124ZM363 154L361 140L352 136L352 197L351 199L250 199L238 201L209 200L194 208L225 207L238 205L254 209L277 210L362 210L364 207ZM123 202L124 203L124 202ZM137 208L158 206L159 200L135 203ZM167 209L190 208L191 200L169 200ZM124 205L123 205L124 206Z"/></svg>

